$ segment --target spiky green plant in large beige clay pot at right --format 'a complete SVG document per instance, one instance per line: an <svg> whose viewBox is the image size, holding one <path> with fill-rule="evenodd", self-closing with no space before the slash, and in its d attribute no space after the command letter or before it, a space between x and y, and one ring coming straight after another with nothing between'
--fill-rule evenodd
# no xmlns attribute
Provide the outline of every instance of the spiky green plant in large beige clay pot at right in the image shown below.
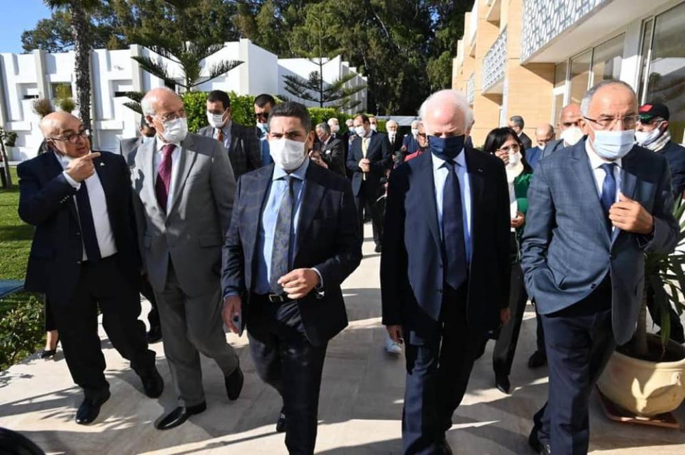
<svg viewBox="0 0 685 455"><path fill-rule="evenodd" d="M685 348L670 339L671 305L685 310L685 203L675 206L680 221L678 244L670 255L645 254L645 291L636 333L616 349L597 382L606 398L632 415L653 417L675 410L685 399ZM647 292L661 311L661 335L647 333ZM667 291L668 289L668 291Z"/></svg>

